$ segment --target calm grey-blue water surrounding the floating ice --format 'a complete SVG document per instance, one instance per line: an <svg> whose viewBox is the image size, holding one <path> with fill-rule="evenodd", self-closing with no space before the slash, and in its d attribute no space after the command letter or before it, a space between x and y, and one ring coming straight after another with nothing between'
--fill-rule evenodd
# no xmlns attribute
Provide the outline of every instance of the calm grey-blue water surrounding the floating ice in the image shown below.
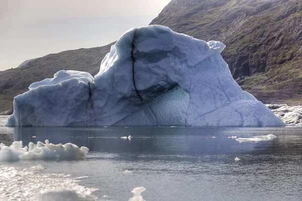
<svg viewBox="0 0 302 201"><path fill-rule="evenodd" d="M0 117L0 124L5 118ZM228 138L268 134L277 138L260 142ZM133 138L121 139L128 135ZM18 179L6 179L0 193L10 197L14 195L6 192L6 186L12 192L20 188L16 200L33 200L25 192L55 187L92 193L97 200L128 200L134 187L143 186L145 200L302 200L302 128L0 126L0 142L5 144L46 139L88 147L87 160L0 162L6 171L11 167L18 174L32 166L45 168L22 174L26 187Z"/></svg>

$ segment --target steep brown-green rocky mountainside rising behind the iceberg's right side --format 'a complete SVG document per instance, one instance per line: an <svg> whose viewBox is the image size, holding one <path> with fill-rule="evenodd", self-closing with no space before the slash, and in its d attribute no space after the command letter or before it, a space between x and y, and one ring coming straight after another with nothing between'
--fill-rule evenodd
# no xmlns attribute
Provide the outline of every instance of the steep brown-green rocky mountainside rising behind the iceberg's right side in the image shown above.
<svg viewBox="0 0 302 201"><path fill-rule="evenodd" d="M243 89L264 103L302 104L302 1L172 0L150 24L223 42Z"/></svg>

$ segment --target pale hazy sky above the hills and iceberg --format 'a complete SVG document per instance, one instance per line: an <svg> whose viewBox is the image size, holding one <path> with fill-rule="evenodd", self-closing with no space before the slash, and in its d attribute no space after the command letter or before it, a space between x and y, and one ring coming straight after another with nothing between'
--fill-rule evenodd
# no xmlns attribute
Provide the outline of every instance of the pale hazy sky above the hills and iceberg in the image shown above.
<svg viewBox="0 0 302 201"><path fill-rule="evenodd" d="M0 71L27 59L98 47L147 26L171 0L0 0Z"/></svg>

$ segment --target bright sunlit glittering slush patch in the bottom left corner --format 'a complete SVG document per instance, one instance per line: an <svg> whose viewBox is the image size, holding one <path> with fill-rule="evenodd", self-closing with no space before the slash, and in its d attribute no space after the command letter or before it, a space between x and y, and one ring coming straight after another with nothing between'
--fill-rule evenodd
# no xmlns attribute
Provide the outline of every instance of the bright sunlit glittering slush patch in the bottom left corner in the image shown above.
<svg viewBox="0 0 302 201"><path fill-rule="evenodd" d="M0 200L96 200L91 193L98 189L80 185L81 178L72 178L67 174L43 173L37 167L21 170L0 165L0 172Z"/></svg>

